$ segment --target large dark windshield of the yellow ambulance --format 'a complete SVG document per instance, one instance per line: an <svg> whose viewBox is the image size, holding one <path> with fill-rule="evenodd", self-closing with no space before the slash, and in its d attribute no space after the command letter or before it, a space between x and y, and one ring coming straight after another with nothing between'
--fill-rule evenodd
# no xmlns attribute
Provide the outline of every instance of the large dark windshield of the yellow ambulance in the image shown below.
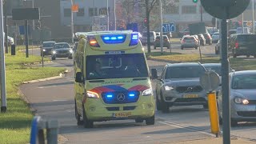
<svg viewBox="0 0 256 144"><path fill-rule="evenodd" d="M148 77L144 54L108 54L86 57L86 78Z"/></svg>

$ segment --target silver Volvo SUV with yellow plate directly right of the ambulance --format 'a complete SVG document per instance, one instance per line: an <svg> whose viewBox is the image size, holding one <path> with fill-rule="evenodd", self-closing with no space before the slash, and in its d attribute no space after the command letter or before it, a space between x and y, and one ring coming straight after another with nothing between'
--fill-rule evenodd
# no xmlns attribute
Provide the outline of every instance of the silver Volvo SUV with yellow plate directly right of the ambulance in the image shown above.
<svg viewBox="0 0 256 144"><path fill-rule="evenodd" d="M157 109L167 112L170 106L191 105L207 108L206 90L199 82L205 72L197 62L167 64L156 86Z"/></svg>

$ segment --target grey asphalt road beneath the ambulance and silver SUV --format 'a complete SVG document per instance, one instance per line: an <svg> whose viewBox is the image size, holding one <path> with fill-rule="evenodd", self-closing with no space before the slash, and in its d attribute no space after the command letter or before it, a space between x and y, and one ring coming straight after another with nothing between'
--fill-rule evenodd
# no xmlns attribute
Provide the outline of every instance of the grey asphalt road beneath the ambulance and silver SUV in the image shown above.
<svg viewBox="0 0 256 144"><path fill-rule="evenodd" d="M175 50L175 49L174 49ZM196 50L186 51L191 54ZM202 51L210 54L213 46L204 46ZM196 52L195 52L196 53ZM213 54L213 53L212 53ZM165 62L148 61L150 68L162 69ZM43 118L57 118L62 143L172 143L198 138L213 138L207 110L202 106L174 106L170 113L156 111L154 126L135 123L134 120L95 122L94 129L84 129L76 125L74 118L74 72L73 60L57 59L46 66L64 66L70 72L65 78L46 82L29 83L21 86L31 106ZM155 82L152 82L153 88ZM243 122L232 128L235 137L256 140L256 123Z"/></svg>

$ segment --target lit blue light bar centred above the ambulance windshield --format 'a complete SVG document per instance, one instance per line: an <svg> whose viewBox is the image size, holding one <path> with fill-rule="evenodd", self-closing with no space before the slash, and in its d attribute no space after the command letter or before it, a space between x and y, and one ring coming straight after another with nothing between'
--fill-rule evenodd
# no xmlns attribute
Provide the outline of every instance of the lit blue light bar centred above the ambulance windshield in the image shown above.
<svg viewBox="0 0 256 144"><path fill-rule="evenodd" d="M108 44L123 43L126 41L126 35L102 35L102 40Z"/></svg>

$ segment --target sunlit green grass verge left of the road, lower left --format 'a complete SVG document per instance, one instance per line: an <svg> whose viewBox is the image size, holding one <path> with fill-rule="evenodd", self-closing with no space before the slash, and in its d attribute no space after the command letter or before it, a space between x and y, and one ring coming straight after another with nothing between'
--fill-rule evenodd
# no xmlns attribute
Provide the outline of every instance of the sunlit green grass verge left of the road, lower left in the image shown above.
<svg viewBox="0 0 256 144"><path fill-rule="evenodd" d="M25 58L22 52L16 56L6 54L6 92L7 112L0 113L0 143L28 143L30 139L30 122L33 114L26 102L18 95L18 86L24 81L48 78L61 73L64 68L25 66L40 62L41 58Z"/></svg>

